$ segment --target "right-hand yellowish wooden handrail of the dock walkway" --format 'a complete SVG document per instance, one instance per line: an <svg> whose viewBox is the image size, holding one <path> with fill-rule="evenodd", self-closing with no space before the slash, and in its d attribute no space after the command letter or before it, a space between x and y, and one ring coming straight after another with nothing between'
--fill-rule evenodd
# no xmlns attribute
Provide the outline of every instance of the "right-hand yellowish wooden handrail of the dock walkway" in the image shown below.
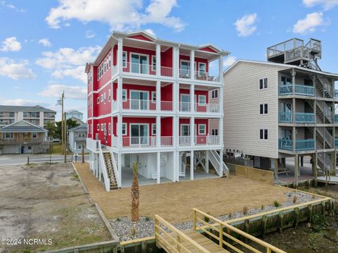
<svg viewBox="0 0 338 253"><path fill-rule="evenodd" d="M213 221L214 223L217 223L217 224L210 224L210 223L208 223L206 221L203 221L200 218L196 217L196 214L201 214L204 217L208 217L209 221ZM230 248L234 249L237 252L241 252L241 251L239 251L239 249L237 249L236 247L234 247L234 245L231 245L229 242L225 242L223 240L223 235L225 235L230 240L234 240L234 242L237 242L239 245L242 245L243 247L246 247L247 249L250 249L253 252L260 252L257 249L254 249L253 247L251 247L250 245L247 245L245 242L242 242L241 240L238 240L237 238L232 237L229 232L226 233L225 231L223 231L223 228L227 228L227 230L232 230L232 232L237 233L238 235L242 235L246 239L249 239L252 242L256 242L258 245L261 245L262 247L265 247L266 252L287 253L287 252L284 252L282 249L278 249L277 247L275 247L273 245L270 245L268 242L264 242L263 240L260 240L257 237L254 237L253 235L245 233L244 231L239 230L238 228L234 228L234 226L231 226L230 224L228 224L225 221L220 221L218 218L215 218L214 216L211 216L210 214L204 213L204 211L200 211L199 209L194 208L193 209L193 215L194 215L193 216L193 218L194 218L194 223L193 223L194 230L202 228L201 226L197 226L197 221L199 221L201 223L207 223L208 224L208 228L211 228L213 230L216 230L215 226L219 226L219 228L218 228L218 235L220 235L220 236L218 238L216 238L216 239L219 240L220 247L223 247L223 244L224 244L224 245L227 245L227 247L230 247ZM207 231L204 228L202 228L202 230L204 230L204 232ZM212 233L210 233L210 234L213 235Z"/></svg>

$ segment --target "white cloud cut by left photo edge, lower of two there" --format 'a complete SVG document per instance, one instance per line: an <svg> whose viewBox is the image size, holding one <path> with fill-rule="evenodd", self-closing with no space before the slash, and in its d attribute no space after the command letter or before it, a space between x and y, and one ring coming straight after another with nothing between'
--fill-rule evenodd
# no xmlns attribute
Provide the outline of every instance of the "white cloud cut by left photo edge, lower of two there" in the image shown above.
<svg viewBox="0 0 338 253"><path fill-rule="evenodd" d="M15 62L10 58L0 58L0 76L14 80L35 79L37 75L28 67L28 61Z"/></svg>

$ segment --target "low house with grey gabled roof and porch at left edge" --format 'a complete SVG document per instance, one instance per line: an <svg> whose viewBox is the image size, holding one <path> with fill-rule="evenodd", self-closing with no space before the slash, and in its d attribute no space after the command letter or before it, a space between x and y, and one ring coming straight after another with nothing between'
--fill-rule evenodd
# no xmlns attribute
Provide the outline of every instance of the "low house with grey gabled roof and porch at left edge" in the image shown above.
<svg viewBox="0 0 338 253"><path fill-rule="evenodd" d="M0 154L37 154L49 150L47 130L21 120L0 128Z"/></svg>

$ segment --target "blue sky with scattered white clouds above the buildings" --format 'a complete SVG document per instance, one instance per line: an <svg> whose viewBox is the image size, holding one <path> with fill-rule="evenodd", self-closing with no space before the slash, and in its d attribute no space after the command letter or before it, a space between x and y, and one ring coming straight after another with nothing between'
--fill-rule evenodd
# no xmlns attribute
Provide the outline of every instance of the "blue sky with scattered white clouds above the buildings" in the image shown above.
<svg viewBox="0 0 338 253"><path fill-rule="evenodd" d="M146 30L187 44L214 44L237 59L265 61L292 37L323 45L320 67L338 73L338 0L0 0L0 104L41 105L87 118L84 66L114 30Z"/></svg>

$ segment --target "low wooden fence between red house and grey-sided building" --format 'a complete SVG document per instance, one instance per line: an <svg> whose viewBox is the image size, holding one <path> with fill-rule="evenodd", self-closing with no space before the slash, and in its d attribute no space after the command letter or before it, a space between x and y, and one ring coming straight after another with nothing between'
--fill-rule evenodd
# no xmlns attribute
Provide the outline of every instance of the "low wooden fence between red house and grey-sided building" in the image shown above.
<svg viewBox="0 0 338 253"><path fill-rule="evenodd" d="M235 175L273 185L273 171L266 171L261 170L260 168L246 167L232 163L227 163L227 167L230 169L230 173Z"/></svg>

